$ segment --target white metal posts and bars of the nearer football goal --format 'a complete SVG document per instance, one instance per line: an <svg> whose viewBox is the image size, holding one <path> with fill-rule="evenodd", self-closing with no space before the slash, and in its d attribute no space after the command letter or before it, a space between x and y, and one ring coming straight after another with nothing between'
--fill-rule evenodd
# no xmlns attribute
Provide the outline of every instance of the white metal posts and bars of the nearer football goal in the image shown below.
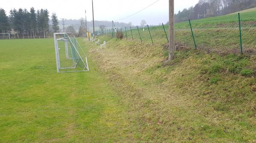
<svg viewBox="0 0 256 143"><path fill-rule="evenodd" d="M65 35L64 37L61 37L58 35ZM70 36L71 35L71 36ZM84 50L81 48L80 44L77 42L75 36L72 33L54 33L54 44L55 44L55 57L56 57L56 67L57 67L57 73L66 73L66 72L85 72L89 71L88 62L87 62L87 56L84 53ZM73 38L76 40L76 44L72 42L70 38ZM59 45L58 41L64 41L65 42L65 58L68 60L73 60L73 66L72 67L61 67L61 61L60 61L60 55L59 55ZM71 50L72 57L69 56L69 48L68 43L70 44L70 47L73 47L73 50ZM76 46L75 46L76 45ZM79 53L79 50L81 50L81 54ZM71 71L61 71L64 69L76 69L78 62L76 62L75 57L73 57L73 53L76 53L76 56L78 56L79 61L81 60L82 65L84 68L82 70L71 70ZM76 57L77 58L77 57Z"/></svg>

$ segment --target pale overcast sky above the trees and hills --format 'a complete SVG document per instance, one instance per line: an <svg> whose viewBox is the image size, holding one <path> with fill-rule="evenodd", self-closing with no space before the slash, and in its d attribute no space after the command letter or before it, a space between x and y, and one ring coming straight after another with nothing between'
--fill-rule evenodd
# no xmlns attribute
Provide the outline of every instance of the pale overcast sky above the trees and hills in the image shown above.
<svg viewBox="0 0 256 143"><path fill-rule="evenodd" d="M87 20L92 20L92 1L91 0L1 0L0 8L3 8L9 14L13 8L34 7L36 10L47 8L50 12L55 12L60 18L79 19L85 17L87 11ZM157 0L93 0L94 20L119 20L134 14L137 11L147 7ZM159 0L154 5L146 8L132 17L128 17L119 22L132 22L134 25L140 25L141 20L146 20L148 25L158 25L168 21L168 2L169 0ZM175 0L175 13L184 8L195 6L198 0Z"/></svg>

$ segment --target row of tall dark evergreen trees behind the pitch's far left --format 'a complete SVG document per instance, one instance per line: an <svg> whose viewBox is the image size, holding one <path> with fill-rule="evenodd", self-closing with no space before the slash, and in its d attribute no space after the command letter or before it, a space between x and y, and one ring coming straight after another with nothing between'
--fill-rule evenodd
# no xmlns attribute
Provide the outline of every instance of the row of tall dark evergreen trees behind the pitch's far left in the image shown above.
<svg viewBox="0 0 256 143"><path fill-rule="evenodd" d="M7 16L6 11L0 8L0 31L2 33L8 33L14 31L14 36L19 38L20 35L35 37L37 35L47 36L49 33L49 11L47 9L41 9L35 11L35 8L30 8L28 11L26 8L15 8L9 11ZM54 32L59 30L58 17L55 13L51 16L52 29Z"/></svg>

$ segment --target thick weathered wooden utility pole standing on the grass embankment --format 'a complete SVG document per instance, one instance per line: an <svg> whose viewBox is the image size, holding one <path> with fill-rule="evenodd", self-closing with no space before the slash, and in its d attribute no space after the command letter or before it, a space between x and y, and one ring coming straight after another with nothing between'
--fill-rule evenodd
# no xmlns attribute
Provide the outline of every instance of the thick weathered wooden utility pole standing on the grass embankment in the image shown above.
<svg viewBox="0 0 256 143"><path fill-rule="evenodd" d="M169 61L174 59L174 0L169 0Z"/></svg>

